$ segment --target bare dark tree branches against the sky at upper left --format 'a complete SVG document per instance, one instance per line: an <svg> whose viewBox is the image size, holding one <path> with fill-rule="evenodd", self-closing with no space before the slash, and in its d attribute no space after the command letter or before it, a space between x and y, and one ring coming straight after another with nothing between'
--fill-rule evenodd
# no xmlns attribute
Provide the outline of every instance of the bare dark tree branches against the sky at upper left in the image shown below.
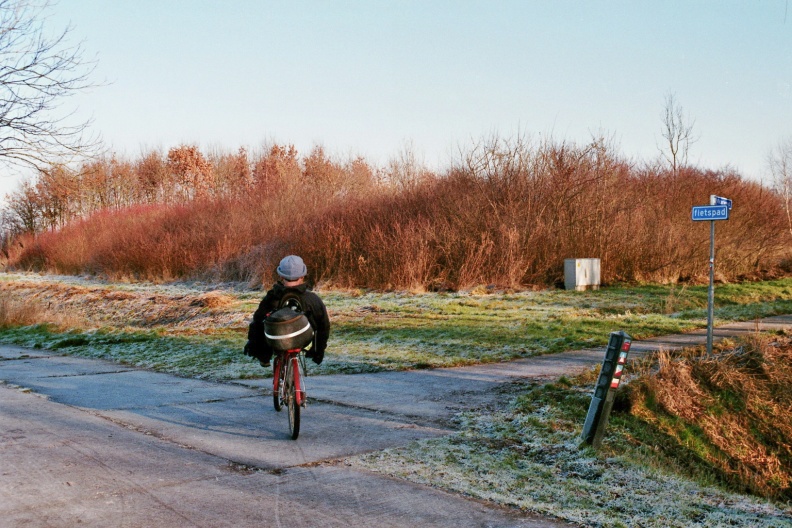
<svg viewBox="0 0 792 528"><path fill-rule="evenodd" d="M42 168L97 146L89 122L59 115L68 96L92 86L94 67L67 27L49 36L47 0L0 0L0 161Z"/></svg>

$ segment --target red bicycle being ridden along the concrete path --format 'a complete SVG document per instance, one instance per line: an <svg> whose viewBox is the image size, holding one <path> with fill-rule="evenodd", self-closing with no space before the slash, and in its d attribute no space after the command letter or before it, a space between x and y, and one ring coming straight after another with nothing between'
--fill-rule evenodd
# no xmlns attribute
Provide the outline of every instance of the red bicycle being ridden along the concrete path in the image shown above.
<svg viewBox="0 0 792 528"><path fill-rule="evenodd" d="M306 402L305 349L277 352L272 362L272 403L278 412L286 406L292 440L300 435L300 409Z"/></svg>

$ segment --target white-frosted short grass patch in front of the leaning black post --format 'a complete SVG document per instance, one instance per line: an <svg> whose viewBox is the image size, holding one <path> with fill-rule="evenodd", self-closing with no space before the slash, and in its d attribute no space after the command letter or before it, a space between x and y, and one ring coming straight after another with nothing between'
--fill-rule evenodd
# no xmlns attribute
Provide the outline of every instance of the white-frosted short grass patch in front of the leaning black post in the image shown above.
<svg viewBox="0 0 792 528"><path fill-rule="evenodd" d="M462 432L347 463L584 526L792 527L792 508L722 491L580 444L549 407L464 414Z"/></svg>

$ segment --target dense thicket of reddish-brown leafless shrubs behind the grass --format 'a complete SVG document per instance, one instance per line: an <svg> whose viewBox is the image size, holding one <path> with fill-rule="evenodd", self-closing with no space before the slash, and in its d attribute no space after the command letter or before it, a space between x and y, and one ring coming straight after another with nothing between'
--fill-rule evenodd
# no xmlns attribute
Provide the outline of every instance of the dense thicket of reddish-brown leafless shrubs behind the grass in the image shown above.
<svg viewBox="0 0 792 528"><path fill-rule="evenodd" d="M172 149L167 161L150 154L111 162L114 181L138 181L140 201L160 202L105 208L34 243L20 239L24 247L6 248L9 263L256 284L270 280L284 254L299 253L315 280L337 286L457 289L554 284L564 259L598 257L606 283L699 280L708 273L709 226L693 222L690 210L710 194L735 203L717 225L723 278L769 269L792 247L780 197L767 188L729 171L635 166L601 140L495 138L443 175L404 162L391 172L407 176L384 183L364 160L341 163L321 148L307 158L278 145L250 158L198 154ZM181 174L175 183L168 171ZM176 189L186 194L164 198L199 176L200 193Z"/></svg>

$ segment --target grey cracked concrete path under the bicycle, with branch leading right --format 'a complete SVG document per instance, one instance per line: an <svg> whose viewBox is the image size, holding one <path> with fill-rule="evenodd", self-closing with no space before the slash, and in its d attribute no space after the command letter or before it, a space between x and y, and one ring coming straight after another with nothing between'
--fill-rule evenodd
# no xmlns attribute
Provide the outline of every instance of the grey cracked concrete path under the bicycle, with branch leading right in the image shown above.
<svg viewBox="0 0 792 528"><path fill-rule="evenodd" d="M716 339L792 329L792 316ZM634 342L632 356L705 333ZM2 526L568 526L343 464L451 432L509 384L597 365L581 350L476 367L308 379L300 438L270 382L210 383L0 348Z"/></svg>

